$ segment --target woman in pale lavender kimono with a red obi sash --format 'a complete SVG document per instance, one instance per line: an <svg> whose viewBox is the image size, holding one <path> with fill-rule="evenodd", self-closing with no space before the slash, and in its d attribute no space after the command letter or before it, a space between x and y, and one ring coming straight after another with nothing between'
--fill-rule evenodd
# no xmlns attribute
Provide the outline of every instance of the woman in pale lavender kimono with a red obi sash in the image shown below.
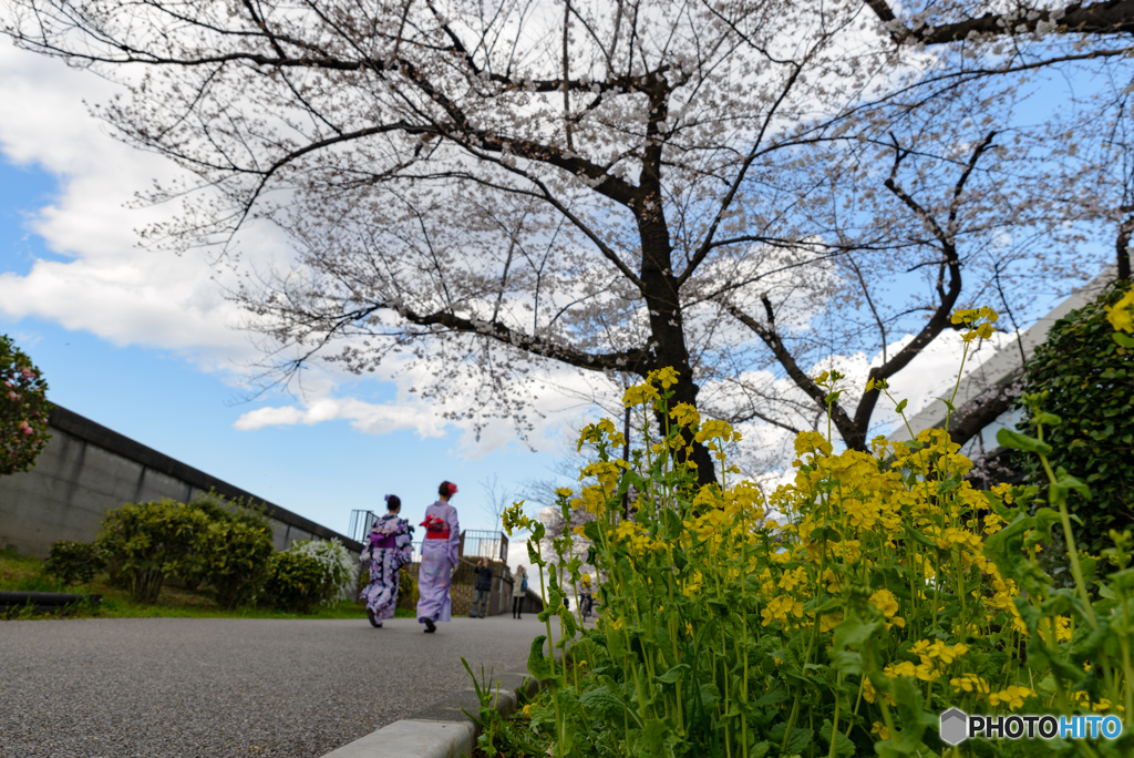
<svg viewBox="0 0 1134 758"><path fill-rule="evenodd" d="M434 622L449 621L451 600L449 583L457 567L460 550L460 524L457 509L449 498L457 494L450 481L438 487L440 499L425 508L425 539L422 540L422 564L417 571L417 623L425 624L425 633L437 631Z"/></svg>

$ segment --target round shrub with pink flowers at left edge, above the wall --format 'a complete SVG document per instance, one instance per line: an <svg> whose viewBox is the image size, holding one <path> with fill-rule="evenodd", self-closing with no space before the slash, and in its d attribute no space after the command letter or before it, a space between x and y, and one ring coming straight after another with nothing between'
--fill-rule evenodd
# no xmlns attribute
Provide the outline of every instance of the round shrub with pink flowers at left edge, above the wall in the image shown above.
<svg viewBox="0 0 1134 758"><path fill-rule="evenodd" d="M46 391L32 360L0 335L0 477L31 469L51 439Z"/></svg>

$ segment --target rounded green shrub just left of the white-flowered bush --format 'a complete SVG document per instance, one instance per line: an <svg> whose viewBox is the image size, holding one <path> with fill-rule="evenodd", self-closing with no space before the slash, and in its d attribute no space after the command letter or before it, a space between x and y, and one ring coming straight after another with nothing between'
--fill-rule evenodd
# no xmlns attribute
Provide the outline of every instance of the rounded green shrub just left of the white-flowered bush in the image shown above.
<svg viewBox="0 0 1134 758"><path fill-rule="evenodd" d="M268 578L273 551L265 527L236 520L209 524L198 554L202 578L217 604L231 609L251 600Z"/></svg>

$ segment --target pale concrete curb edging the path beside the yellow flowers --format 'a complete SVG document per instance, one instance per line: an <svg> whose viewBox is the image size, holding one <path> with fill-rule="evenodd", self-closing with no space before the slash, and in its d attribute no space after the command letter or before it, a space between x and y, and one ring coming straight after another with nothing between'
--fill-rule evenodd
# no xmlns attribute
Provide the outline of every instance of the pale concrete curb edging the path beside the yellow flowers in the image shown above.
<svg viewBox="0 0 1134 758"><path fill-rule="evenodd" d="M475 673L475 672L474 672ZM499 699L497 711L508 717L519 704L517 690L531 698L542 689L542 682L526 673L493 674L492 691ZM472 755L480 727L464 710L475 714L481 704L476 690L457 690L413 714L409 718L388 724L361 740L332 750L323 758L460 758ZM464 710L462 710L464 709Z"/></svg>

